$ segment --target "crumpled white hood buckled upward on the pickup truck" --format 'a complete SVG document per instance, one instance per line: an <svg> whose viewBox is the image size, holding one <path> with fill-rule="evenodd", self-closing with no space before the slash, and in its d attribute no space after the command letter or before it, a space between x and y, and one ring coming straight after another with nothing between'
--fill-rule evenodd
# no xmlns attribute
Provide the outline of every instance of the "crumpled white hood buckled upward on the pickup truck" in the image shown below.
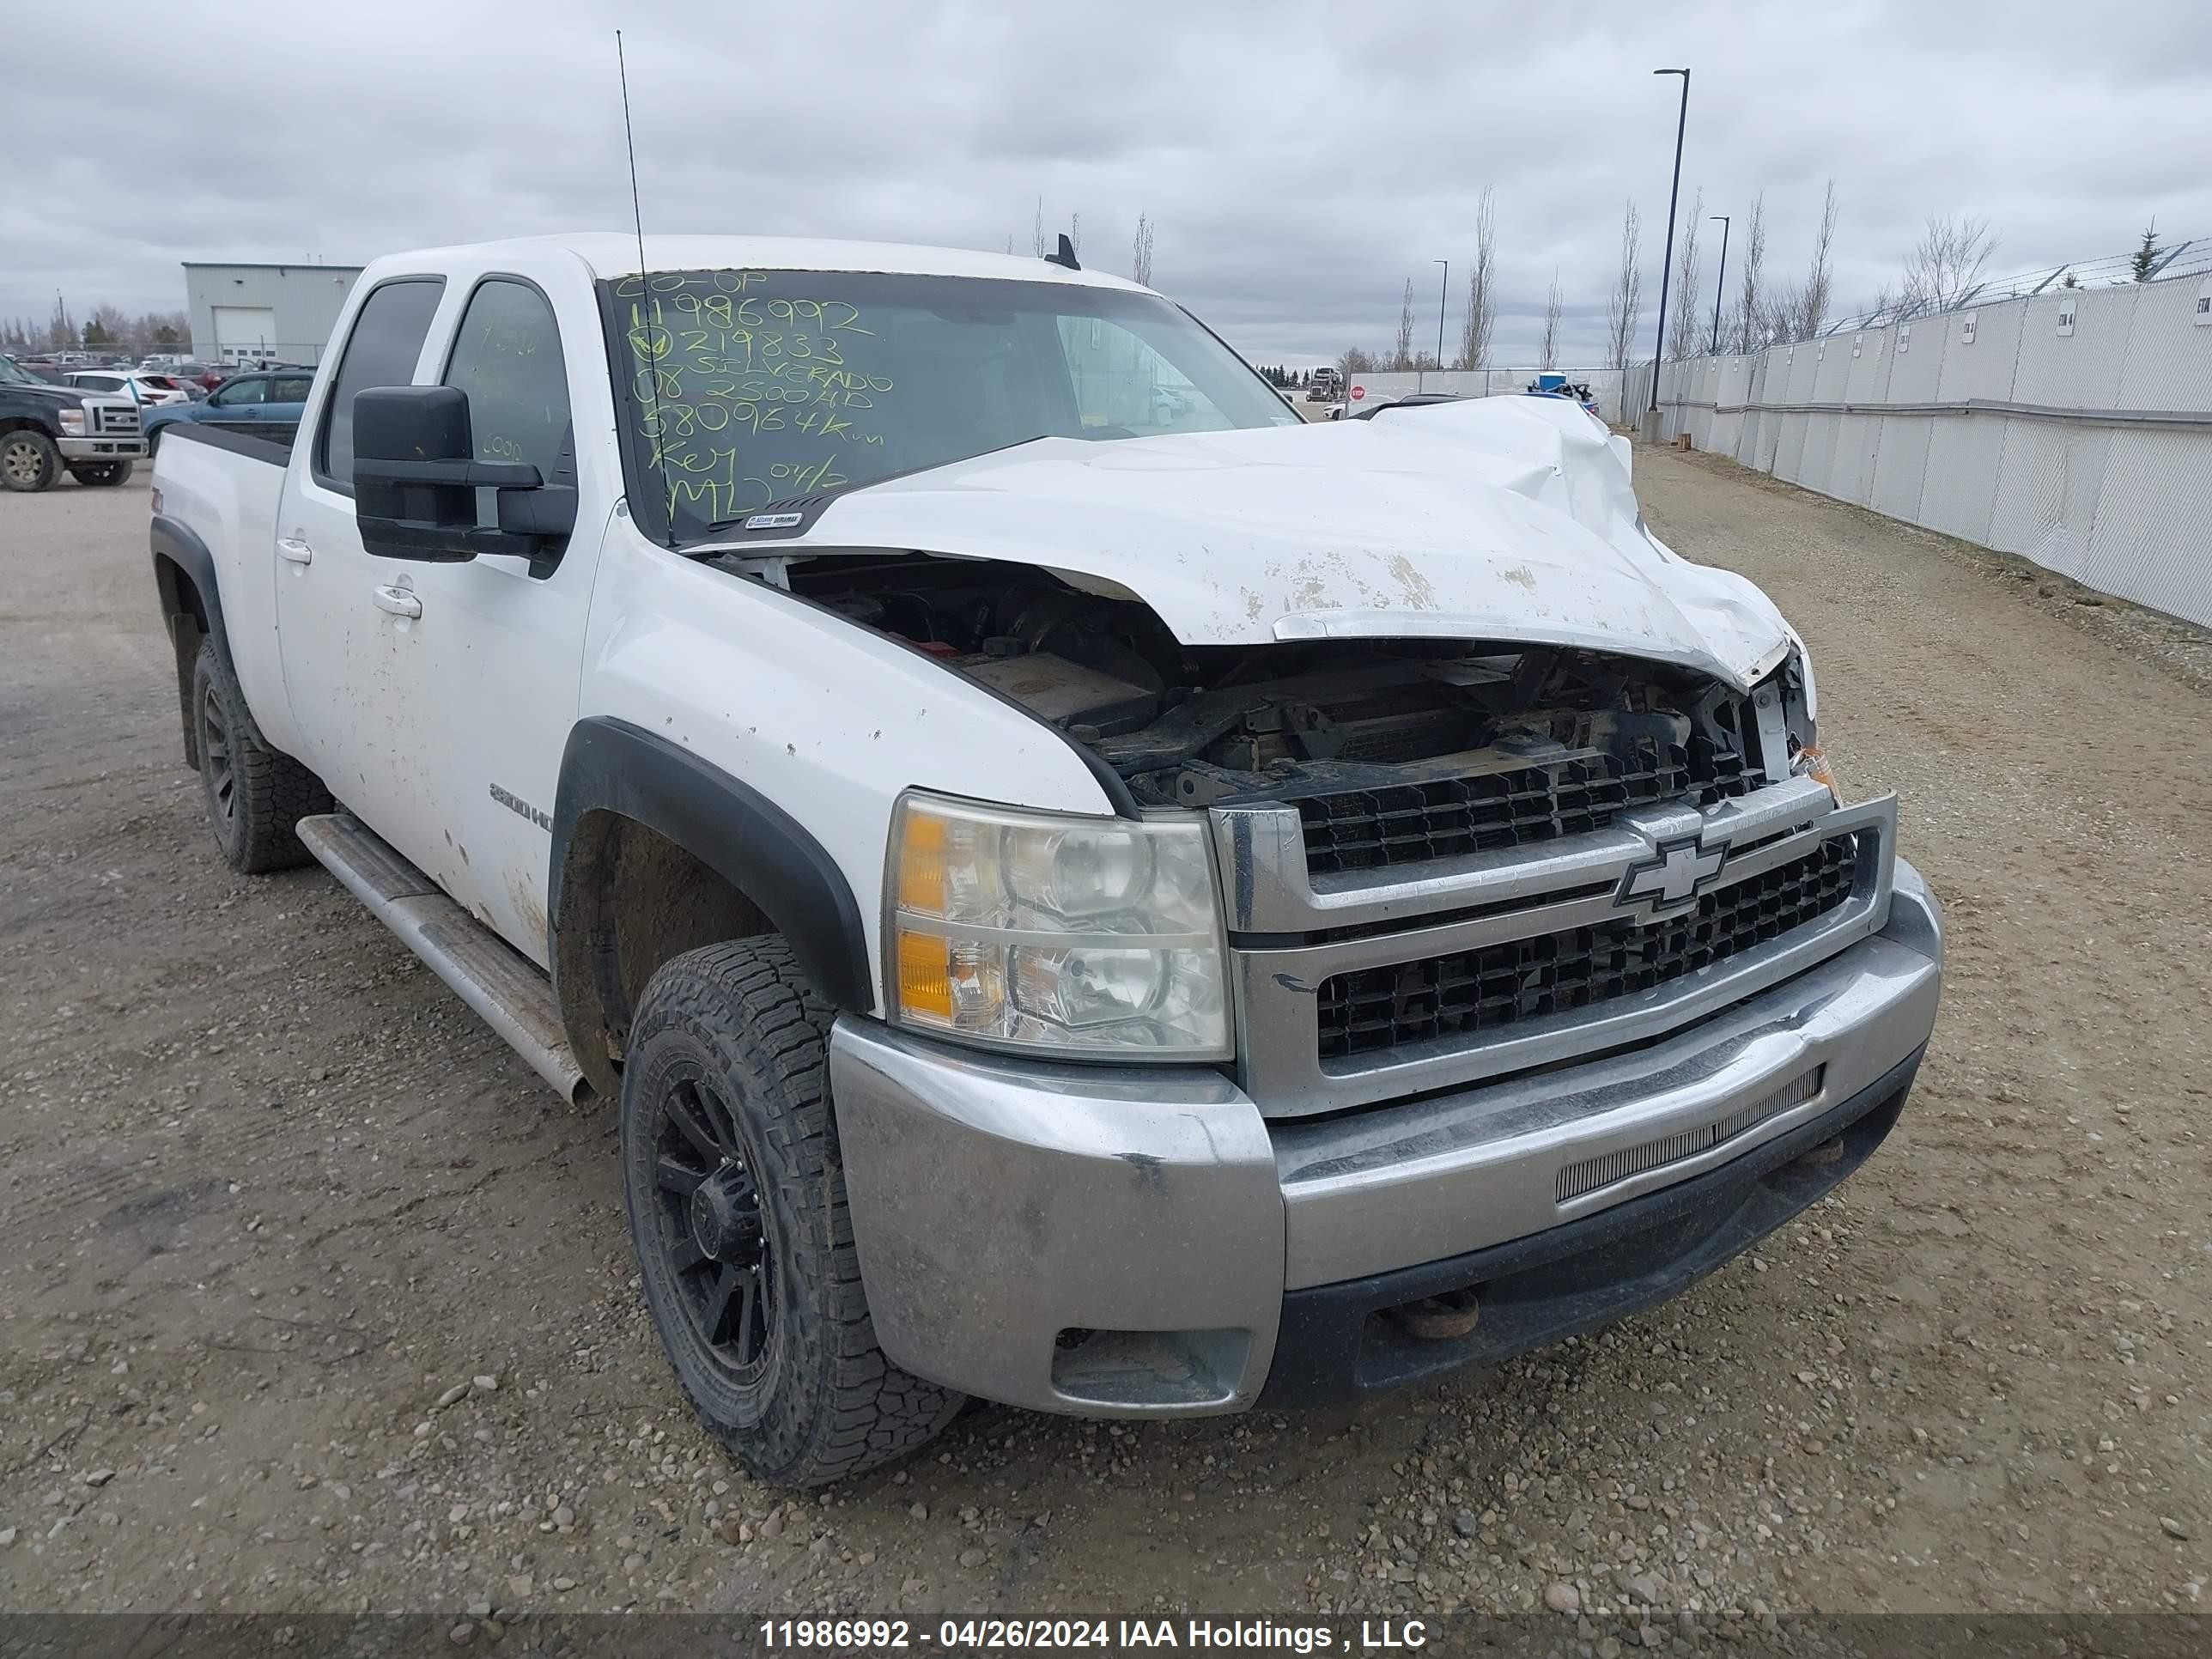
<svg viewBox="0 0 2212 1659"><path fill-rule="evenodd" d="M1628 445L1564 398L1086 442L834 500L796 542L1011 560L1148 604L1190 646L1444 637L1615 650L1750 688L1790 630L1650 538ZM748 538L748 553L765 551Z"/></svg>

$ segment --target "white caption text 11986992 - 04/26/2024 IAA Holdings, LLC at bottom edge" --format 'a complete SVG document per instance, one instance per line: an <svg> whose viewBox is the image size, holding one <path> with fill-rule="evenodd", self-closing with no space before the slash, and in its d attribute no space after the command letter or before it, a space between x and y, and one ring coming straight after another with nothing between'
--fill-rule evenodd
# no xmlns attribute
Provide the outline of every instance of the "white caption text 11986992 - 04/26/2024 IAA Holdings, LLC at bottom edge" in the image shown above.
<svg viewBox="0 0 2212 1659"><path fill-rule="evenodd" d="M1159 1648L1243 1652L1380 1652L1429 1644L1420 1619L1360 1619L1358 1630L1270 1619L945 1619L933 1630L909 1619L768 1619L761 1641L790 1650L1000 1652L1011 1648L1130 1652Z"/></svg>

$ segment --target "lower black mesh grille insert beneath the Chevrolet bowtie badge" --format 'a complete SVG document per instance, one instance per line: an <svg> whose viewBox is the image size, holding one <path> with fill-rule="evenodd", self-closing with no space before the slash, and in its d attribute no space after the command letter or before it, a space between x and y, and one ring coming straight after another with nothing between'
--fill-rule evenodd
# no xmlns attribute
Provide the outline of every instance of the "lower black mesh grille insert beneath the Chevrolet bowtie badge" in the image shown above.
<svg viewBox="0 0 2212 1659"><path fill-rule="evenodd" d="M1624 916L1336 973L1321 984L1318 1057L1475 1037L1668 984L1816 922L1849 898L1856 872L1856 836L1832 836L1803 858L1701 894L1672 920Z"/></svg>

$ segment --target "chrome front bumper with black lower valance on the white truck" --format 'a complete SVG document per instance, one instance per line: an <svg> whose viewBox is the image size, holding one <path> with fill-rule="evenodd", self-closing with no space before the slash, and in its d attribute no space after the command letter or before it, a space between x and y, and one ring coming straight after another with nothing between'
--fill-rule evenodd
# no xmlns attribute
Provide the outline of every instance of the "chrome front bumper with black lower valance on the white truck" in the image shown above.
<svg viewBox="0 0 2212 1659"><path fill-rule="evenodd" d="M1940 980L1940 911L1900 860L1878 933L1688 1031L1332 1117L1270 1121L1197 1066L1046 1066L843 1018L830 1079L876 1338L918 1376L1082 1416L1343 1398L1557 1340L1674 1294L1871 1155ZM1475 1285L1467 1338L1376 1318Z"/></svg>

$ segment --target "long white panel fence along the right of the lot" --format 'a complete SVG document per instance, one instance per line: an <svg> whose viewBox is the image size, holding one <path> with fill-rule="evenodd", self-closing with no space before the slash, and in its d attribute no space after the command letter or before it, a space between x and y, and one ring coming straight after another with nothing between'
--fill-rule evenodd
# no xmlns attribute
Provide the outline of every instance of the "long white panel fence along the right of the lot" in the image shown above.
<svg viewBox="0 0 2212 1659"><path fill-rule="evenodd" d="M1626 392L1650 407L1650 363ZM1661 438L2212 626L2212 276L1683 358L1659 416Z"/></svg>

